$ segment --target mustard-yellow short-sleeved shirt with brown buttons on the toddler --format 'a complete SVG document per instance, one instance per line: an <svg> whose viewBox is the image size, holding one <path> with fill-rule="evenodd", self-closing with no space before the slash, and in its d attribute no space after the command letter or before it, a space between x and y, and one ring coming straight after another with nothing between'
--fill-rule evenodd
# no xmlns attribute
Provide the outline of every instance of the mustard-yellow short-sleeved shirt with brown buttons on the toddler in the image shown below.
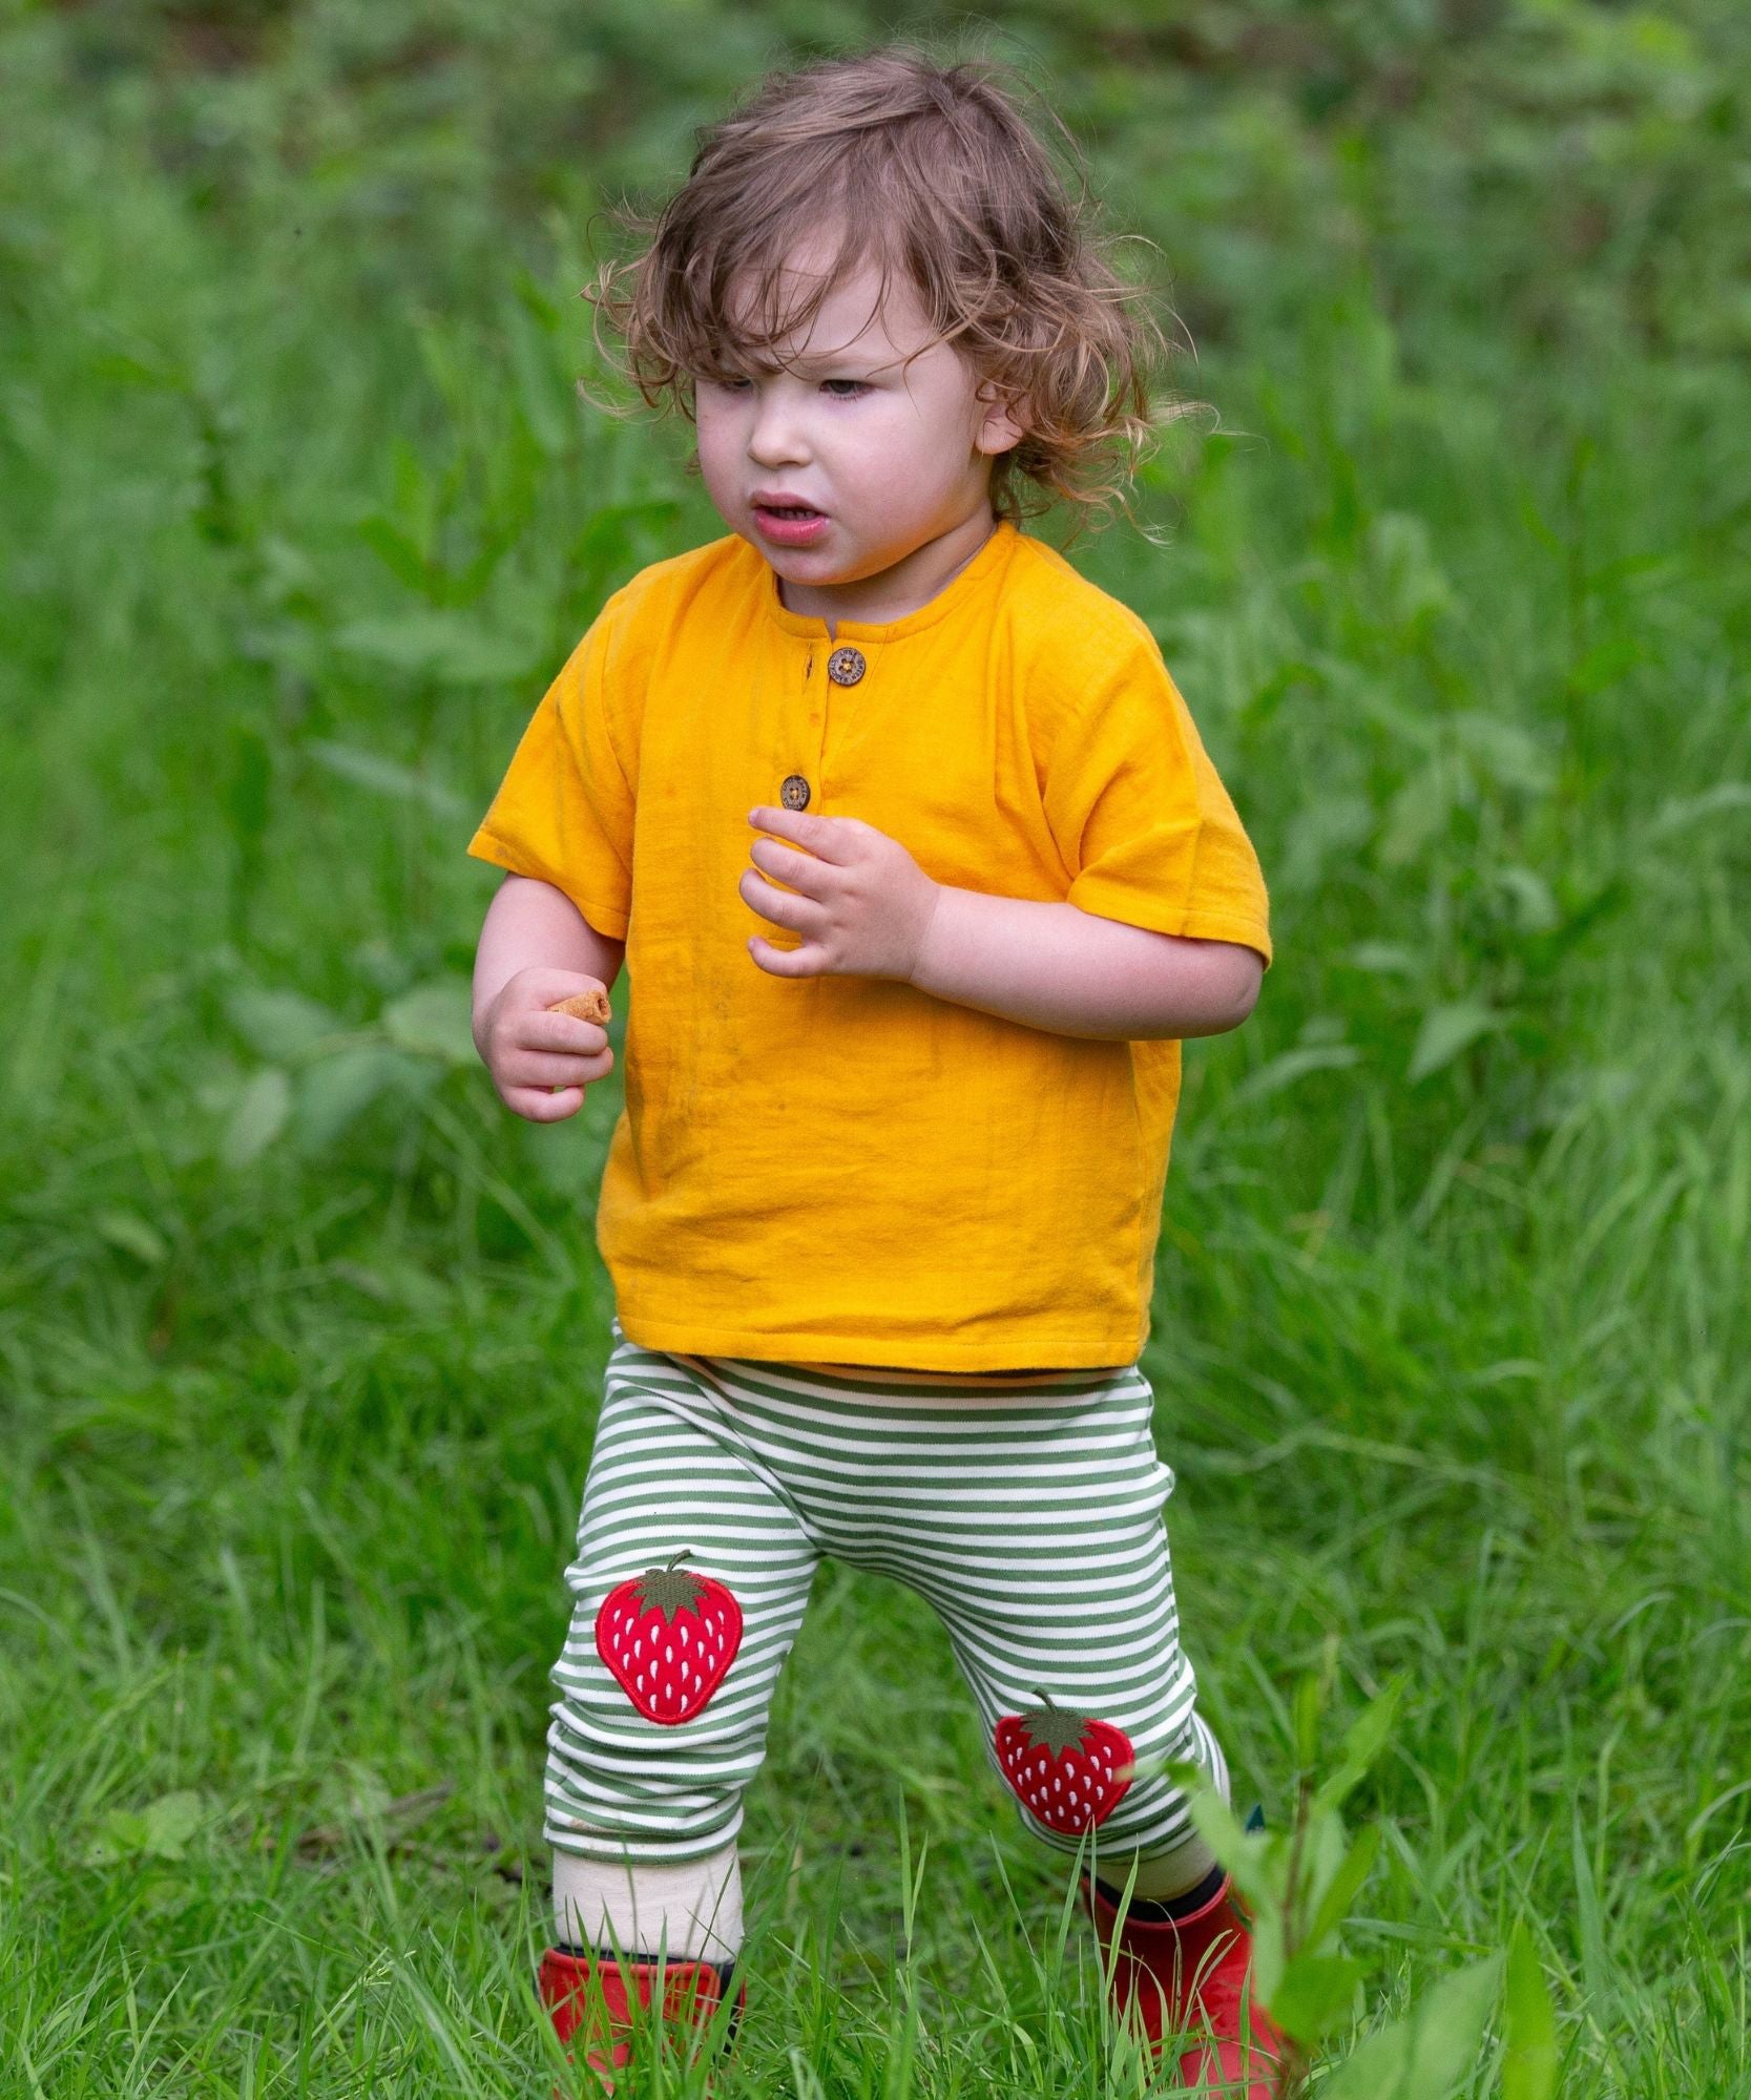
<svg viewBox="0 0 1751 2100"><path fill-rule="evenodd" d="M762 970L750 934L796 934L737 880L747 813L787 779L936 882L1270 960L1258 859L1153 634L1043 542L1001 521L928 605L831 638L737 536L653 563L554 678L468 846L626 941L596 1205L624 1331L922 1371L1132 1363L1178 1042Z"/></svg>

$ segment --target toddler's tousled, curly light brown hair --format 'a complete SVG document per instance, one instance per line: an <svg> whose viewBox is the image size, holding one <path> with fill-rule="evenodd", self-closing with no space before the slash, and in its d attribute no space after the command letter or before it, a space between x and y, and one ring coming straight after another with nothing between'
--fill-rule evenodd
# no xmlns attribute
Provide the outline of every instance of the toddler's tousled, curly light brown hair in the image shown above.
<svg viewBox="0 0 1751 2100"><path fill-rule="evenodd" d="M806 330L861 262L880 267L884 290L905 269L930 340L957 342L999 399L1025 403L1027 435L991 470L997 517L1020 523L1060 500L1079 506L1073 533L1092 517L1106 523L1115 500L1132 517L1138 464L1190 403L1157 391L1169 353L1148 292L1109 265L1088 185L1069 193L1022 116L1027 99L995 61L943 65L915 44L768 74L697 132L687 183L659 214L613 212L642 246L603 262L582 294L596 349L647 407L668 397L693 422L695 374ZM1079 168L1075 141L1046 116ZM785 256L834 223L831 269L781 313ZM754 298L733 328L729 288L743 271ZM624 359L603 342L603 315Z"/></svg>

